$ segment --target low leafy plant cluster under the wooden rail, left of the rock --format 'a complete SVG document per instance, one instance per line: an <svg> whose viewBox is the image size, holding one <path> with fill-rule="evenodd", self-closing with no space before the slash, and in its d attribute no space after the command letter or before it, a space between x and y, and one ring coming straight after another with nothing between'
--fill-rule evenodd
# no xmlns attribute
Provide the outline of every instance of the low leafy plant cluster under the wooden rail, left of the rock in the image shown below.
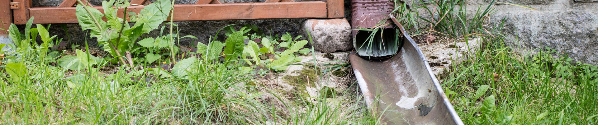
<svg viewBox="0 0 598 125"><path fill-rule="evenodd" d="M225 35L228 38L224 43L210 41L208 45L205 45L199 42L197 44L197 54L202 55L202 59L218 60L220 56L213 53L221 53L224 56L225 63L244 60L248 66L241 67L240 71L251 71L253 69L263 71L264 68L284 71L290 63L302 60L297 54L307 54L311 51L308 48L303 48L307 44L306 40L298 41L303 36L292 39L292 36L286 33L276 40L277 36L260 35L258 33L261 32L257 27L249 26L245 26L239 31L236 31L232 26L225 27L224 30L227 31ZM246 35L250 31L256 33ZM224 47L224 50L222 47Z"/></svg>

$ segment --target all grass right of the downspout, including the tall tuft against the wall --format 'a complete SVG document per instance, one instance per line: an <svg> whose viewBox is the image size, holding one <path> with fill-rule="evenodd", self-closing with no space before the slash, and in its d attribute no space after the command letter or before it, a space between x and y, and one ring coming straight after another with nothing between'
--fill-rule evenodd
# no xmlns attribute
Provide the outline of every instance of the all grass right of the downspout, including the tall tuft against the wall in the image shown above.
<svg viewBox="0 0 598 125"><path fill-rule="evenodd" d="M467 13L465 1L420 3L395 9L412 36L481 39L480 49L471 51L475 56L455 63L441 78L465 124L596 124L597 66L573 62L548 47L515 53L505 45L512 39L501 32L501 22L484 26L496 11L493 4ZM430 19L420 12L435 16Z"/></svg>

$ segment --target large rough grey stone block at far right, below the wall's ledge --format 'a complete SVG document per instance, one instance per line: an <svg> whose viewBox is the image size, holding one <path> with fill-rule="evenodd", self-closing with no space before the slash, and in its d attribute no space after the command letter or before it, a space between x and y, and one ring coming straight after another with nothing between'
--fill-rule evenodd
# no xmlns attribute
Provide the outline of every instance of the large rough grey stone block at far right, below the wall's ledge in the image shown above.
<svg viewBox="0 0 598 125"><path fill-rule="evenodd" d="M557 11L495 13L492 22L505 17L504 31L515 50L550 47L577 61L598 65L598 13Z"/></svg>

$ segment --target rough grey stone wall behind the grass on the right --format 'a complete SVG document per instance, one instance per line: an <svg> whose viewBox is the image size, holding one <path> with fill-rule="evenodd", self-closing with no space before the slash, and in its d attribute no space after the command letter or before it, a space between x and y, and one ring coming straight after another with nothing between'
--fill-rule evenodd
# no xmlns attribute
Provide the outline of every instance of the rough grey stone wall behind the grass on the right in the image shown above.
<svg viewBox="0 0 598 125"><path fill-rule="evenodd" d="M408 1L409 4L413 4L413 1ZM468 0L468 13L474 14L478 7L485 8L490 2L492 0ZM496 13L490 16L490 26L504 21L503 33L508 35L507 44L520 54L533 53L531 50L536 48L550 47L576 61L598 65L598 0L496 2L538 9L507 4L494 6Z"/></svg>

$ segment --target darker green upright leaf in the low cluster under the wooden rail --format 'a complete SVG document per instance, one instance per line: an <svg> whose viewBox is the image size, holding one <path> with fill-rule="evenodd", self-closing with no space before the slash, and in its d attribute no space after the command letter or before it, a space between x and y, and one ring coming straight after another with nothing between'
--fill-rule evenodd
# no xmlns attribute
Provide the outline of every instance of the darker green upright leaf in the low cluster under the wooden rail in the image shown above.
<svg viewBox="0 0 598 125"><path fill-rule="evenodd" d="M226 47L224 48L224 54L227 55L224 60L230 61L237 59L237 57L243 53L243 47L245 46L245 44L243 44L243 32L237 31L230 34L224 44Z"/></svg>

